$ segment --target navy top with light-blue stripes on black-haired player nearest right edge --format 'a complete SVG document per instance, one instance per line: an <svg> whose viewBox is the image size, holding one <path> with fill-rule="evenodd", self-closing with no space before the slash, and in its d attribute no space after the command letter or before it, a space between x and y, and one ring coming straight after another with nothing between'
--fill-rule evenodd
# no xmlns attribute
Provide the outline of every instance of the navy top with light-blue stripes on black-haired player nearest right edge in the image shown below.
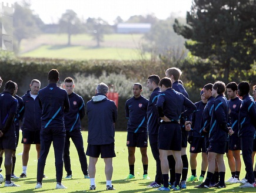
<svg viewBox="0 0 256 193"><path fill-rule="evenodd" d="M256 110L255 101L249 94L242 97L239 111L239 137L255 137Z"/></svg>

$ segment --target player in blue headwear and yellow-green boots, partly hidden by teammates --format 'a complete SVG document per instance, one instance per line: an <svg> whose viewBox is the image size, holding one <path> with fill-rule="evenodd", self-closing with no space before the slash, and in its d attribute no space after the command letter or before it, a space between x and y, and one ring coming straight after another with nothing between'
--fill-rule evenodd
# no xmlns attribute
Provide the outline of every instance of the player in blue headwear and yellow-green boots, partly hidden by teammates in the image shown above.
<svg viewBox="0 0 256 193"><path fill-rule="evenodd" d="M192 114L192 126L191 131L189 131L188 142L190 143L190 167L191 167L191 177L188 178L187 182L197 181L197 154L202 153L202 162L201 162L201 175L199 181L204 180L204 174L207 170L208 161L207 153L205 148L204 136L201 136L201 120L202 112L204 107L207 104L207 99L204 97L204 89L200 92L201 100L195 103L197 111Z"/></svg>

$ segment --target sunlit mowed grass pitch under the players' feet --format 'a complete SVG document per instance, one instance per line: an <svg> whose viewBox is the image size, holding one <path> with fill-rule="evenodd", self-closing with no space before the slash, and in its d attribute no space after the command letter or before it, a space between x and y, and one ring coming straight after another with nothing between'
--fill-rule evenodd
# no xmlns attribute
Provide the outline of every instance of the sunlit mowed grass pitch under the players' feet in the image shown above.
<svg viewBox="0 0 256 193"><path fill-rule="evenodd" d="M84 137L84 146L85 150L87 148L87 131L82 131L82 135ZM155 176L155 161L152 157L152 153L150 147L148 148L148 158L149 158L149 168L148 175L151 177L151 180L143 180L143 170L142 170L142 162L141 162L141 154L139 152L139 148L136 149L136 161L135 161L135 179L132 180L124 180L129 173L128 167L128 151L126 147L126 132L116 132L115 133L115 153L117 157L113 158L113 166L114 173L112 177L112 184L116 189L114 192L155 192L153 188L147 188L152 181L154 181ZM16 150L16 167L15 174L19 176L22 172L22 144L18 145ZM55 180L55 165L54 165L54 151L51 147L51 150L48 154L46 165L45 165L45 175L48 178L43 179L43 184L41 189L34 189L36 185L36 151L35 145L31 146L31 151L29 154L29 162L28 162L28 170L27 170L27 178L16 179L16 184L21 185L21 187L4 187L4 184L0 186L0 192L103 192L105 191L105 173L104 173L104 161L99 158L97 163L97 172L96 172L96 185L97 189L95 191L89 191L89 179L84 179L84 175L82 174L81 167L78 160L77 150L74 147L74 144L71 142L71 168L72 168L72 179L63 179L62 184L64 184L68 189L55 189L56 180ZM188 154L189 158L189 154ZM87 157L89 161L89 157ZM201 172L201 156L198 155L198 167L197 174L200 175ZM227 157L225 156L225 164L226 164L226 180L231 176L230 169L228 168ZM2 174L5 175L4 164L2 164ZM64 178L66 172L64 170ZM191 170L189 167L188 176L191 175ZM241 168L241 178L244 178L245 175L245 167L242 163ZM194 188L195 185L198 185L199 182L188 182L187 189L182 189L180 192L255 192L254 188L238 188L239 184L226 184L227 188L210 188L210 189L197 189Z"/></svg>

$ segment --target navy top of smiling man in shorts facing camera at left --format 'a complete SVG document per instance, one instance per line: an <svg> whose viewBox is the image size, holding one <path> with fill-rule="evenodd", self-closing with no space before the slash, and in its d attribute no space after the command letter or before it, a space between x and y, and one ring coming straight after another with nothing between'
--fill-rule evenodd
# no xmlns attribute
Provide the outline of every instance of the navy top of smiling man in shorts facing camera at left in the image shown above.
<svg viewBox="0 0 256 193"><path fill-rule="evenodd" d="M42 108L39 104L39 97L37 96L34 100L30 95L30 90L28 90L22 99L24 105L21 109L21 130L41 130Z"/></svg>

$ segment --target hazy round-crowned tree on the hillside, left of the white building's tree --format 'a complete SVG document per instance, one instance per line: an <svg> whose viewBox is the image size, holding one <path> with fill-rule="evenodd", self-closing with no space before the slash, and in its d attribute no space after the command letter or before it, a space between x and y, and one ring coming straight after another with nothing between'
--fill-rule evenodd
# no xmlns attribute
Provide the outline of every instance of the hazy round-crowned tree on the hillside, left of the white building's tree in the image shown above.
<svg viewBox="0 0 256 193"><path fill-rule="evenodd" d="M71 45L71 35L82 32L82 23L71 9L67 9L59 19L59 32L68 33L68 46Z"/></svg>

